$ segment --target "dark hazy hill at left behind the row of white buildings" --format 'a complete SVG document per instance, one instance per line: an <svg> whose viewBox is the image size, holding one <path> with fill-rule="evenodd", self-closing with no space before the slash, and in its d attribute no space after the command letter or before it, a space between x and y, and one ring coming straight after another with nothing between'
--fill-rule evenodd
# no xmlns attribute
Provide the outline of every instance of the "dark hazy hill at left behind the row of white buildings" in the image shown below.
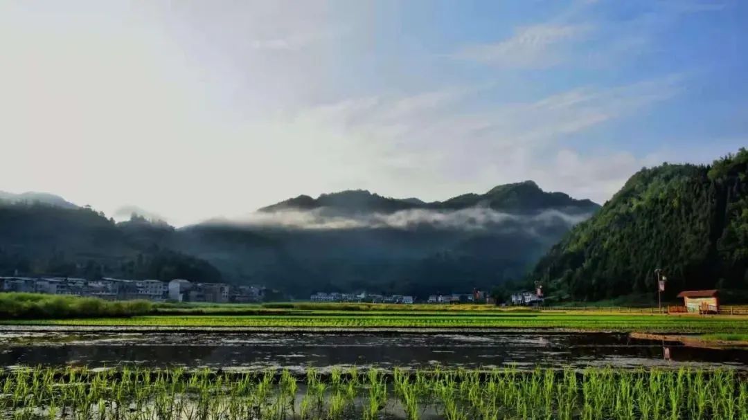
<svg viewBox="0 0 748 420"><path fill-rule="evenodd" d="M174 228L88 208L0 203L0 275L221 280L208 262L162 247Z"/></svg>

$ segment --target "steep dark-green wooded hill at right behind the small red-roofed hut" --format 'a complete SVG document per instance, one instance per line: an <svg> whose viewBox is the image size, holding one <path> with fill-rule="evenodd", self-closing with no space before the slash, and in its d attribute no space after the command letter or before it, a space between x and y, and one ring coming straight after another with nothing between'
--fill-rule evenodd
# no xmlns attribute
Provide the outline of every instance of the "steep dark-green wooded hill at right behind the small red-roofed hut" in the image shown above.
<svg viewBox="0 0 748 420"><path fill-rule="evenodd" d="M557 299L600 300L684 289L748 288L748 151L711 166L663 164L626 182L537 265Z"/></svg>

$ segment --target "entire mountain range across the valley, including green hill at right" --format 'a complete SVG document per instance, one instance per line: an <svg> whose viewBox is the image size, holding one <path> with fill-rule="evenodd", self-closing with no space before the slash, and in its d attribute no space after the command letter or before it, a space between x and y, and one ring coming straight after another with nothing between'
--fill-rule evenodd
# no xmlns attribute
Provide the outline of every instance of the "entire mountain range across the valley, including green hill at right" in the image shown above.
<svg viewBox="0 0 748 420"><path fill-rule="evenodd" d="M442 202L369 191L301 195L242 220L179 229L51 194L0 195L0 275L183 277L288 296L366 289L427 294L545 285L550 300L748 291L748 151L635 173L600 207L534 182Z"/></svg>

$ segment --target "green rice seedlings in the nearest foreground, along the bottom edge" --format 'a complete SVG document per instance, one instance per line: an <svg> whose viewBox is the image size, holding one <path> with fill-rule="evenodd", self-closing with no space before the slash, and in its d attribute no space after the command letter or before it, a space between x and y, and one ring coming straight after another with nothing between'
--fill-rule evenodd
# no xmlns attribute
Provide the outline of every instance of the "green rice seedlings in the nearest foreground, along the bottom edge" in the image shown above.
<svg viewBox="0 0 748 420"><path fill-rule="evenodd" d="M8 419L746 419L748 382L735 371L588 368L521 372L352 367L189 372L22 368L0 374Z"/></svg>

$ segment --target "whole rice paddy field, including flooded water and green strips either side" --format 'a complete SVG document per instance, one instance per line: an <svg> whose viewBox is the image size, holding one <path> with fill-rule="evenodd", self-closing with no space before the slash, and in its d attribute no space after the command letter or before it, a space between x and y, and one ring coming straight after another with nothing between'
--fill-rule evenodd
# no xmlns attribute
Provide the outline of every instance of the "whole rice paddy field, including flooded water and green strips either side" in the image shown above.
<svg viewBox="0 0 748 420"><path fill-rule="evenodd" d="M748 420L748 317L653 312L162 306L5 319L0 418Z"/></svg>

